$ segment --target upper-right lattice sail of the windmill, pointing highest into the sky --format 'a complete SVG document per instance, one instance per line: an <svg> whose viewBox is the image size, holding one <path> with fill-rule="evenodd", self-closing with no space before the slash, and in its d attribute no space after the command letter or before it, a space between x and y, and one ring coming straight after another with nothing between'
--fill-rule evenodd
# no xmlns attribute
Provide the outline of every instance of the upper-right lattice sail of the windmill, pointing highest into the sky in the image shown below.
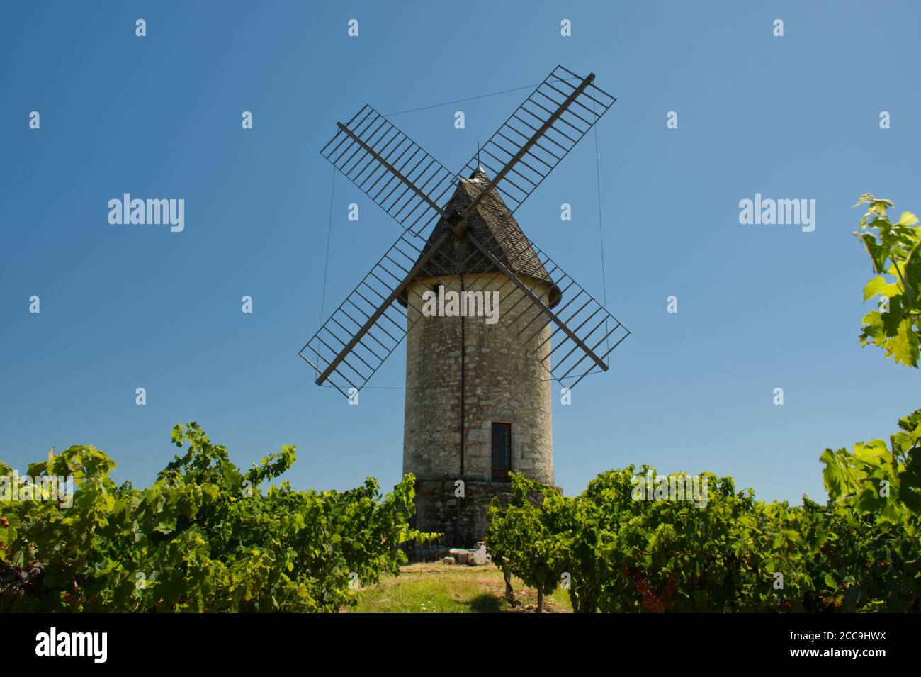
<svg viewBox="0 0 921 677"><path fill-rule="evenodd" d="M617 100L594 79L556 66L460 173L483 165L514 213Z"/></svg>

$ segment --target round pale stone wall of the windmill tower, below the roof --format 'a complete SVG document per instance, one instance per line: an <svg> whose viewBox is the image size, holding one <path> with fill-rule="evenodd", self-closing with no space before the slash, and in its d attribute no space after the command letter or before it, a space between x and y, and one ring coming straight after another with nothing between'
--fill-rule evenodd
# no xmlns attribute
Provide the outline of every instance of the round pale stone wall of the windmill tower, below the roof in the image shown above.
<svg viewBox="0 0 921 677"><path fill-rule="evenodd" d="M527 278L525 282L533 284ZM487 324L483 317L462 319L461 475L461 318L421 316L420 297L439 284L449 291L461 291L460 278L450 276L416 281L408 294L414 326L406 337L403 473L414 473L418 482L417 525L425 531L444 532L446 543L454 540L457 522L454 482L464 480L461 543L453 544L465 545L482 539L490 499L508 490L507 483L492 481L493 421L511 423L511 469L554 484L550 374L531 355L537 344L542 344L542 355L549 352L550 328L543 326L545 317L540 310L522 298L504 274L464 276L467 290L498 291L499 313L495 324ZM544 303L548 292L543 285L534 289ZM530 343L524 344L534 333Z"/></svg>

